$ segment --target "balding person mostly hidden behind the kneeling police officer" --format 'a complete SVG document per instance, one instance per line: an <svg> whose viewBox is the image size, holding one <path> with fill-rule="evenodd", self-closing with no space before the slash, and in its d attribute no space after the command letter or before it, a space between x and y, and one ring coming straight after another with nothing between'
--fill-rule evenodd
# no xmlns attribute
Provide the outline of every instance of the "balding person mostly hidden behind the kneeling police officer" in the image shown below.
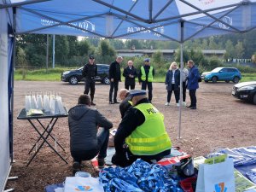
<svg viewBox="0 0 256 192"><path fill-rule="evenodd" d="M119 98L122 100L119 104L119 111L121 113L121 118L123 119L125 116L125 112L128 110L128 108L131 108L132 102L131 102L131 95L129 90L121 89L119 91Z"/></svg>

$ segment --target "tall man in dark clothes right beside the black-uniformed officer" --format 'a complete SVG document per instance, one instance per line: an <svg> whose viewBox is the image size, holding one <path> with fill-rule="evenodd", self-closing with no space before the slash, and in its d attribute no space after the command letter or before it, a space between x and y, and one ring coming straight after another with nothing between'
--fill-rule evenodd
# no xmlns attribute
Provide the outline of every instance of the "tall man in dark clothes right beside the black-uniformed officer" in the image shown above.
<svg viewBox="0 0 256 192"><path fill-rule="evenodd" d="M118 56L115 61L110 64L109 67L109 104L119 103L117 101L117 92L119 90L119 81L121 81L120 62L123 61L123 57Z"/></svg>

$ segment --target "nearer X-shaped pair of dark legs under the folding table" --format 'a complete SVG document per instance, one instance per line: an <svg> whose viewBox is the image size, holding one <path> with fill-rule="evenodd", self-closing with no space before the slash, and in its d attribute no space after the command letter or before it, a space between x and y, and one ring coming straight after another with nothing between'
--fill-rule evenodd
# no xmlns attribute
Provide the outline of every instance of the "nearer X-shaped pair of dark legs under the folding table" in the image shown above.
<svg viewBox="0 0 256 192"><path fill-rule="evenodd" d="M49 145L49 147L54 150L55 154L58 154L59 157L61 157L61 160L65 161L65 163L67 163L67 160L65 160L65 159L61 156L61 154L59 154L59 153L55 150L55 148L53 148L53 147L51 146L51 144L47 141L47 138L49 137L49 134L51 133L51 131L53 131L53 128L54 128L55 123L56 123L56 121L58 120L58 118L55 118L55 120L54 120L54 122L53 122L53 125L51 125L51 127L50 127L50 129L49 129L49 131L48 131L48 134L46 135L46 137L44 137L44 136L40 133L40 131L38 131L37 127L36 127L35 125L33 125L31 119L27 119L27 120L28 120L29 123L32 125L32 127L38 132L38 134L40 135L40 137L42 137L42 139L44 139L44 141L43 141L43 143L40 144L38 150L36 151L35 154L33 154L31 160L29 160L29 162L27 163L26 166L29 166L29 165L30 165L30 163L31 163L32 160L35 158L35 156L38 154L39 150L42 148L42 146L44 145L44 143L47 143L47 144ZM68 164L68 163L67 163L67 164Z"/></svg>

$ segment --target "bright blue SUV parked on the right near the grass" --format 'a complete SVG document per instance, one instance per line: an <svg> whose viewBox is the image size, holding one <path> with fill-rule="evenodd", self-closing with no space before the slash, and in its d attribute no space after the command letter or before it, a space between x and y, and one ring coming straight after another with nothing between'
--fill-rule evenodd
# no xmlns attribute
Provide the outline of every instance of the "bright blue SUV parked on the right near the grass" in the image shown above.
<svg viewBox="0 0 256 192"><path fill-rule="evenodd" d="M233 81L237 84L241 80L241 72L235 67L217 67L212 72L202 73L201 79L205 80L206 83L209 81L212 81L212 83L217 81L230 83L230 81Z"/></svg>

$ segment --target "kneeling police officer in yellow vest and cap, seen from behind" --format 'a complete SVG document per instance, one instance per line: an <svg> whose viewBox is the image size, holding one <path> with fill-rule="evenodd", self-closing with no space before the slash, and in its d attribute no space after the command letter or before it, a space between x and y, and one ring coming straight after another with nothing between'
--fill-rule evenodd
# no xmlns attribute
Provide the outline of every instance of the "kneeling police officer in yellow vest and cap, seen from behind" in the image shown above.
<svg viewBox="0 0 256 192"><path fill-rule="evenodd" d="M171 153L171 139L166 133L164 116L148 102L146 90L130 90L132 108L125 113L114 137L117 166L130 166L141 158L149 163Z"/></svg>

